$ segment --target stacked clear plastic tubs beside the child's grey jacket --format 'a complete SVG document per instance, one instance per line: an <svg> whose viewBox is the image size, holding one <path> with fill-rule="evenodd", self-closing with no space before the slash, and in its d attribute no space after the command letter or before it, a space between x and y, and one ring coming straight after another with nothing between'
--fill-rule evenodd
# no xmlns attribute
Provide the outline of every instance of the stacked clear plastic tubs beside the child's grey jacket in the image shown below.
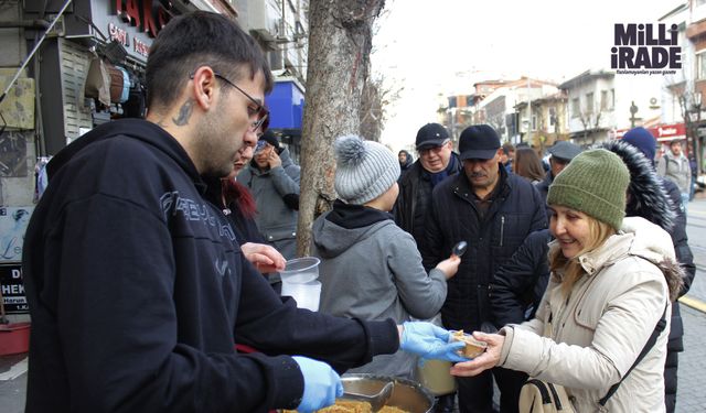
<svg viewBox="0 0 706 413"><path fill-rule="evenodd" d="M321 298L319 259L302 257L287 261L285 270L279 272L282 279L281 295L288 295L297 302L297 307L315 312Z"/></svg>

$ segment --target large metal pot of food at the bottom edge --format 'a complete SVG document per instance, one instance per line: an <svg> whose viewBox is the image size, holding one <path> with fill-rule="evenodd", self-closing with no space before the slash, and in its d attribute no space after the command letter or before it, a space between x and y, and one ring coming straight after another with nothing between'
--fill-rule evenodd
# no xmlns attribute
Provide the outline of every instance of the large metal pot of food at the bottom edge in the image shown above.
<svg viewBox="0 0 706 413"><path fill-rule="evenodd" d="M362 394L375 394L392 381L395 389L386 405L410 413L429 413L434 410L434 395L416 381L366 373L346 373L341 381L345 390Z"/></svg>

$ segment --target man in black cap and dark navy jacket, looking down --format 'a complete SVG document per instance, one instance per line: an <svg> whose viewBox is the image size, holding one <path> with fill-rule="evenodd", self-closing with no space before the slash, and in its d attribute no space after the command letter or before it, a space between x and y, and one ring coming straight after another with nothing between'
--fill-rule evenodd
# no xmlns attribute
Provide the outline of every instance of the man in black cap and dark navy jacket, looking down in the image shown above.
<svg viewBox="0 0 706 413"><path fill-rule="evenodd" d="M453 244L468 242L457 275L441 308L443 325L473 332L494 329L490 324L489 285L530 232L546 228L544 199L534 186L500 163L500 138L488 124L463 130L459 143L463 173L435 187L425 222L421 257L427 269L448 256ZM501 327L501 326L496 326ZM517 412L524 373L492 370L501 390L501 412ZM493 378L484 372L459 378L461 412L493 412Z"/></svg>

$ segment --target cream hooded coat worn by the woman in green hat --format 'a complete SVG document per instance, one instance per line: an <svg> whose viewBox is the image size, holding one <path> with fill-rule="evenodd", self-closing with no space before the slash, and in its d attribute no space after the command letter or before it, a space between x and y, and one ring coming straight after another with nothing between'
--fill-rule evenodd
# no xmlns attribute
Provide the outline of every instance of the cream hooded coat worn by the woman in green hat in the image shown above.
<svg viewBox="0 0 706 413"><path fill-rule="evenodd" d="M625 218L620 233L579 258L587 274L567 300L553 276L536 318L505 327L500 366L563 384L578 412L663 412L668 328L608 401L678 291L681 268L667 232ZM542 337L552 316L553 330ZM666 317L667 322L670 317Z"/></svg>

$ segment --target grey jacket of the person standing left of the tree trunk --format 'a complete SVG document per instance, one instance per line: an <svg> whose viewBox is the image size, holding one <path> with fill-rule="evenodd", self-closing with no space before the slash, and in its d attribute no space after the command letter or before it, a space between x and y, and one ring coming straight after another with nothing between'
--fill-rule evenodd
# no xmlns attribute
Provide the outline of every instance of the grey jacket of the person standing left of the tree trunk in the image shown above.
<svg viewBox="0 0 706 413"><path fill-rule="evenodd" d="M299 196L299 166L285 149L279 154L281 166L261 172L254 163L238 175L257 203L255 222L263 237L286 259L297 254L297 219L299 213L285 203L285 196Z"/></svg>

